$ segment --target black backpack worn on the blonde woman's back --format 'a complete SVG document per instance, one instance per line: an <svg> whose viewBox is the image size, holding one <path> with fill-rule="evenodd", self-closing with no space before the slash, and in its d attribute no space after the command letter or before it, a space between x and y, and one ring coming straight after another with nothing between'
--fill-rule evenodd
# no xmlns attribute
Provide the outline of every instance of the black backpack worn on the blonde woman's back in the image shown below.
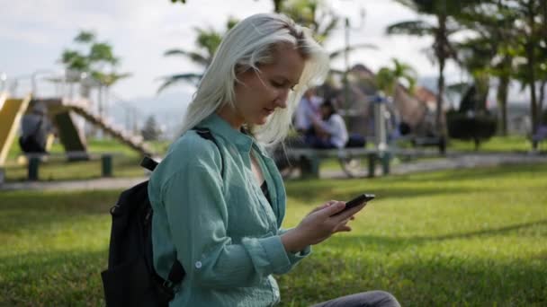
<svg viewBox="0 0 547 307"><path fill-rule="evenodd" d="M208 129L195 130L217 145ZM154 171L157 162L145 157L140 165ZM112 232L108 268L101 273L106 305L167 306L175 297L175 287L181 284L185 272L176 259L167 280L154 269L153 211L148 199L148 180L123 191L110 213Z"/></svg>

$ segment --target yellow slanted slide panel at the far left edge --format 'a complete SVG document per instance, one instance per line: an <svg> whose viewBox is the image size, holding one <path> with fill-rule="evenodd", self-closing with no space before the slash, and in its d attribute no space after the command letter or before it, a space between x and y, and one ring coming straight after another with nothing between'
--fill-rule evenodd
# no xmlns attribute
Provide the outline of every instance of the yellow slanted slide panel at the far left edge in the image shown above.
<svg viewBox="0 0 547 307"><path fill-rule="evenodd" d="M3 166L7 159L21 124L22 115L30 101L30 96L23 99L9 99L7 93L0 93L0 166Z"/></svg>

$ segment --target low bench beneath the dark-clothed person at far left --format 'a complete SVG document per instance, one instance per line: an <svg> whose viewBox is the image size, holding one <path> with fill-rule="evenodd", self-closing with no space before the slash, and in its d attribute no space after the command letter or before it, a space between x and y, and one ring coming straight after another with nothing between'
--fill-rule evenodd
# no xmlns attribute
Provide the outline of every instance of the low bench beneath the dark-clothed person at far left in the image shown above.
<svg viewBox="0 0 547 307"><path fill-rule="evenodd" d="M27 180L39 180L40 163L49 157L66 157L67 161L101 160L101 176L112 177L112 159L115 153L25 153L27 159Z"/></svg>

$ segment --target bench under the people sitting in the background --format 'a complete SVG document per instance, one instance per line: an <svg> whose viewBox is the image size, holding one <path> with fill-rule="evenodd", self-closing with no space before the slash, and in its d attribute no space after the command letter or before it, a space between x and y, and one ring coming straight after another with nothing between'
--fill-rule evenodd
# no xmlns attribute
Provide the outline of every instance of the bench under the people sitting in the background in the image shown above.
<svg viewBox="0 0 547 307"><path fill-rule="evenodd" d="M366 148L287 148L284 153L275 156L275 161L283 178L290 177L297 168L300 169L300 178L318 178L321 160L329 158L336 158L342 171L350 178L374 177L377 162L381 162L384 175L390 173L390 152Z"/></svg>

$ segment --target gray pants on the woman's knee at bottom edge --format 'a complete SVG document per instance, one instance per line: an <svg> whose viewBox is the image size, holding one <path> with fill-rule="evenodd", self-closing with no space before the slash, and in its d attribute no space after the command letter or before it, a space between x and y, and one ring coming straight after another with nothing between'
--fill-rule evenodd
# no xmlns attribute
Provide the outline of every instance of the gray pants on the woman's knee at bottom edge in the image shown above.
<svg viewBox="0 0 547 307"><path fill-rule="evenodd" d="M313 307L400 307L397 299L384 291L368 291L338 297Z"/></svg>

